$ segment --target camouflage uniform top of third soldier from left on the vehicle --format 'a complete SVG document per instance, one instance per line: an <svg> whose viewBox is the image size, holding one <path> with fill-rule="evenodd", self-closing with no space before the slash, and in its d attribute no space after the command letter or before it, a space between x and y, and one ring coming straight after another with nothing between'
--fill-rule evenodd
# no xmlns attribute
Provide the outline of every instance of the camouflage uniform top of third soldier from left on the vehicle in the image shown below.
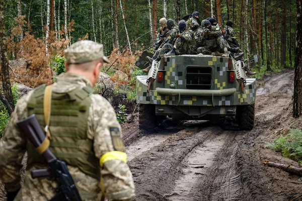
<svg viewBox="0 0 302 201"><path fill-rule="evenodd" d="M190 54L191 52L190 43L192 38L193 38L193 31L191 29L187 29L181 34L181 37L178 37L176 39L174 44L176 46L176 50L175 50L176 55Z"/></svg>

